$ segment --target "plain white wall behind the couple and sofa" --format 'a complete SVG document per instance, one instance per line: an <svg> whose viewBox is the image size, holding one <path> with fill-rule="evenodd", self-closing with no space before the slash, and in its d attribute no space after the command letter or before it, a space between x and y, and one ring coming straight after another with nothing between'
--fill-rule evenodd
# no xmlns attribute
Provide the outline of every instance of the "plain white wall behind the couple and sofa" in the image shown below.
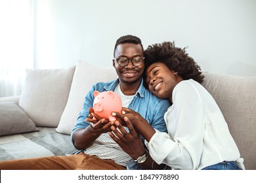
<svg viewBox="0 0 256 183"><path fill-rule="evenodd" d="M256 76L254 0L35 0L35 67L111 66L116 39L175 41L202 71Z"/></svg>

